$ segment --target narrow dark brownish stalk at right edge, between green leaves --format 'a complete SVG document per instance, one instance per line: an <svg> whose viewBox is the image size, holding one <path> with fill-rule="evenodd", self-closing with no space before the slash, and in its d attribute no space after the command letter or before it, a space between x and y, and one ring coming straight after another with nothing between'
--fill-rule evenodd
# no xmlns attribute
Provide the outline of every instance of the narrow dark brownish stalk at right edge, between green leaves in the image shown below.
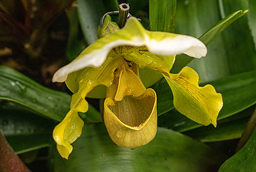
<svg viewBox="0 0 256 172"><path fill-rule="evenodd" d="M244 147L244 144L248 141L250 136L252 135L254 129L256 127L256 109L253 112L253 115L250 117L248 120L246 127L244 129L244 133L242 134L238 144L237 144L237 149L236 152L239 151L242 147Z"/></svg>

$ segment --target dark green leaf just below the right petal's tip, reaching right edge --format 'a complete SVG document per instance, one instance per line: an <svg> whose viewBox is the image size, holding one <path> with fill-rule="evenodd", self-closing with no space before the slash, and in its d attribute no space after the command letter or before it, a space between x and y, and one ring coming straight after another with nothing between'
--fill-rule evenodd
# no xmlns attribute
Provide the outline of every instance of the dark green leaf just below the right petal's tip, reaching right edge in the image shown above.
<svg viewBox="0 0 256 172"><path fill-rule="evenodd" d="M212 126L199 127L187 131L184 134L196 138L196 140L200 140L201 142L216 142L240 138L254 109L255 107L253 106L241 111L235 116L219 120L217 128Z"/></svg>

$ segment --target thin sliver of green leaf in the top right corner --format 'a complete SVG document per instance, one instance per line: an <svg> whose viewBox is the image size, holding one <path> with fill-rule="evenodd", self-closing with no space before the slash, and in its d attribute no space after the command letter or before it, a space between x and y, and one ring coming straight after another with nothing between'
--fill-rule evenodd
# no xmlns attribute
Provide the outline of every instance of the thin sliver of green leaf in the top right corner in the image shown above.
<svg viewBox="0 0 256 172"><path fill-rule="evenodd" d="M248 24L250 27L250 32L253 34L253 41L256 48L256 1L248 0Z"/></svg>

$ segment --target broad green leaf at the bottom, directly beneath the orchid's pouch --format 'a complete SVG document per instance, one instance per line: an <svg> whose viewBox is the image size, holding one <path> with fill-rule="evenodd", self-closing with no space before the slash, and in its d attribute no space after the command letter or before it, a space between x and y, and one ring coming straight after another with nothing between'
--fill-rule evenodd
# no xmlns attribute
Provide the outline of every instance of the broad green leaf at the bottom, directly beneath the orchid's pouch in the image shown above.
<svg viewBox="0 0 256 172"><path fill-rule="evenodd" d="M158 128L156 138L136 149L114 144L104 125L86 125L68 160L53 147L53 171L212 171L226 155L171 130ZM203 158L202 158L203 157Z"/></svg>

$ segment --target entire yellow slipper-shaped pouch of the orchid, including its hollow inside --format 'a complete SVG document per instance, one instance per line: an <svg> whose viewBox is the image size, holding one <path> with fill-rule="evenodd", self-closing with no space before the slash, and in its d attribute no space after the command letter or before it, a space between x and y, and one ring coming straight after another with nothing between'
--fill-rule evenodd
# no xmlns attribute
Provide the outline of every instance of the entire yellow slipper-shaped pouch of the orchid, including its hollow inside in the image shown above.
<svg viewBox="0 0 256 172"><path fill-rule="evenodd" d="M147 89L142 96L125 96L116 103L107 98L104 123L109 136L120 147L133 149L149 143L157 129L156 92Z"/></svg>

